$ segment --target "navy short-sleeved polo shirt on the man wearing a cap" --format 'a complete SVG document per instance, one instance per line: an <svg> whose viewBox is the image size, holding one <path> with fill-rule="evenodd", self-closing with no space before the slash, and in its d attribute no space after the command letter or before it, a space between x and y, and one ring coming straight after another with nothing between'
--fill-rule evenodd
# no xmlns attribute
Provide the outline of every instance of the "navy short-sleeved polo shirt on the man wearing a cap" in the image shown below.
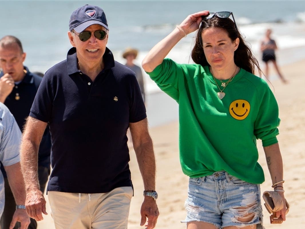
<svg viewBox="0 0 305 229"><path fill-rule="evenodd" d="M105 193L132 186L127 129L146 118L135 73L114 61L92 82L77 68L76 49L42 79L30 116L48 122L52 173L47 191Z"/></svg>

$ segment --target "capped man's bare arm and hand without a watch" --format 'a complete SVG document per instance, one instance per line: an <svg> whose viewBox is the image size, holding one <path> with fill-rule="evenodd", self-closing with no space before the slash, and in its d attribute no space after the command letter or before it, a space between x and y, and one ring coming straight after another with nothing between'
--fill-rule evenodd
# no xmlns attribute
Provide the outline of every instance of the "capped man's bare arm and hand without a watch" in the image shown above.
<svg viewBox="0 0 305 229"><path fill-rule="evenodd" d="M20 149L21 169L27 191L25 207L27 214L36 221L43 220L42 213L48 214L38 181L38 149L46 126L46 122L28 117Z"/></svg>

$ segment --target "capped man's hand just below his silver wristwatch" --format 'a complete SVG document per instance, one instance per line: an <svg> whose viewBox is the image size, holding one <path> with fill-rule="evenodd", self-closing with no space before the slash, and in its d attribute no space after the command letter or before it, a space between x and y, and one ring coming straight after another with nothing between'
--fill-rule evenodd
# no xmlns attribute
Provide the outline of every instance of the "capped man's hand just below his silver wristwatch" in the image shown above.
<svg viewBox="0 0 305 229"><path fill-rule="evenodd" d="M150 196L145 196L141 206L140 226L143 226L145 224L147 217L148 220L147 224L145 225L145 229L152 229L156 227L158 216L159 210L156 201Z"/></svg>

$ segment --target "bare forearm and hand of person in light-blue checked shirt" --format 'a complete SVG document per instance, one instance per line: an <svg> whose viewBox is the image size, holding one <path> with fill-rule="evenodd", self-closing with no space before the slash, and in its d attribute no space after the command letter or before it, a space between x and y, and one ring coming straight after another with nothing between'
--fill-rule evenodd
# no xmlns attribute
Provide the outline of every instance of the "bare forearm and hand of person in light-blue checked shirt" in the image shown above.
<svg viewBox="0 0 305 229"><path fill-rule="evenodd" d="M26 192L24 188L20 162L9 166L4 166L4 169L7 174L7 178L9 180L9 186L11 187L16 204L24 205ZM16 209L9 228L10 229L14 228L17 221L21 223L21 229L27 229L27 227L30 224L30 217L27 215L25 209Z"/></svg>

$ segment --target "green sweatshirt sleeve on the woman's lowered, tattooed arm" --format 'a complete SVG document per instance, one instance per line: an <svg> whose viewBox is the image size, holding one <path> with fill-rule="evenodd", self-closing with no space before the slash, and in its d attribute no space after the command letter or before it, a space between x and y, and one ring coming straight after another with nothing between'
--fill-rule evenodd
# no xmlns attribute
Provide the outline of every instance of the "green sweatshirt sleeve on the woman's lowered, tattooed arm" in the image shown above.
<svg viewBox="0 0 305 229"><path fill-rule="evenodd" d="M262 140L263 146L269 146L278 142L278 104L267 83L264 90L260 91L260 106L257 119L254 123L254 135Z"/></svg>

